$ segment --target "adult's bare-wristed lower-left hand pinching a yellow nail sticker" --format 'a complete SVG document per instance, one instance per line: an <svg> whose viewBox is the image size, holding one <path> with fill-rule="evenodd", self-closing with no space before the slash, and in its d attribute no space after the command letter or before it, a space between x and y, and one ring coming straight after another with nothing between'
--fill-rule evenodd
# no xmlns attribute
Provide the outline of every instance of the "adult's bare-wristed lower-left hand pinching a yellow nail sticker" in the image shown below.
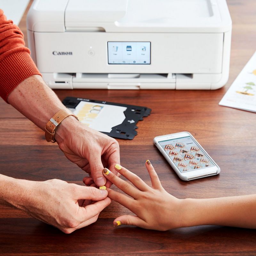
<svg viewBox="0 0 256 256"><path fill-rule="evenodd" d="M19 198L9 199L9 204L68 234L95 222L99 213L111 203L104 189L56 179L17 182L15 189L20 188ZM87 200L96 202L86 205Z"/></svg>

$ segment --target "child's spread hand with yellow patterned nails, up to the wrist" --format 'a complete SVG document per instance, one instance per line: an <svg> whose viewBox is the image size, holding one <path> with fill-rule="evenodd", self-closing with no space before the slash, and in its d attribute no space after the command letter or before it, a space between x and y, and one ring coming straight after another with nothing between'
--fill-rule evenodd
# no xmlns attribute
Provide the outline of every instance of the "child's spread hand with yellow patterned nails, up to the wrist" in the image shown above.
<svg viewBox="0 0 256 256"><path fill-rule="evenodd" d="M156 171L149 160L146 161L146 167L148 169L152 187L149 187L137 175L119 164L115 165L115 169L126 179L130 180L136 188L130 183L117 177L107 168L103 170L104 176L109 181L132 198L113 191L110 188L107 188L108 196L137 215L119 216L114 220L114 226L124 224L156 230L168 230L170 228L181 227L183 221L183 200L170 195L164 190Z"/></svg>

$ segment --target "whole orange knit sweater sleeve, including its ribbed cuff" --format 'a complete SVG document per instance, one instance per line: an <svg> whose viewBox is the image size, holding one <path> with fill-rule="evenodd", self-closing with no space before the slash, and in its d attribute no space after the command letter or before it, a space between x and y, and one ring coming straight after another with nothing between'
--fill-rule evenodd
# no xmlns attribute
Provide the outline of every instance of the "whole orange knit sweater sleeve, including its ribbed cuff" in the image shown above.
<svg viewBox="0 0 256 256"><path fill-rule="evenodd" d="M33 75L41 74L25 47L22 32L0 9L0 96L7 101L14 88Z"/></svg>

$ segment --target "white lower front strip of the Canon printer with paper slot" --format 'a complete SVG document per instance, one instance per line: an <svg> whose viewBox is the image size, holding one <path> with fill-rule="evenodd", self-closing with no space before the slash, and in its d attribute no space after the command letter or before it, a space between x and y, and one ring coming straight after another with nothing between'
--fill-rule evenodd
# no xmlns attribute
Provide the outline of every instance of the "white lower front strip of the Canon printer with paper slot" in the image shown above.
<svg viewBox="0 0 256 256"><path fill-rule="evenodd" d="M86 74L42 73L52 89L183 89L210 90L222 74ZM213 88L215 89L215 88Z"/></svg>

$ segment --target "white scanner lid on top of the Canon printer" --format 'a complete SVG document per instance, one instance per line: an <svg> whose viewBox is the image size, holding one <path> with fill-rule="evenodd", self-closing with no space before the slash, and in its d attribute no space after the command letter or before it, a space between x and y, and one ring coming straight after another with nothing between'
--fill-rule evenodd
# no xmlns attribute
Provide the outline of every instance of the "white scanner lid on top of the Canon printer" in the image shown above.
<svg viewBox="0 0 256 256"><path fill-rule="evenodd" d="M221 33L231 30L225 0L36 0L28 29Z"/></svg>

